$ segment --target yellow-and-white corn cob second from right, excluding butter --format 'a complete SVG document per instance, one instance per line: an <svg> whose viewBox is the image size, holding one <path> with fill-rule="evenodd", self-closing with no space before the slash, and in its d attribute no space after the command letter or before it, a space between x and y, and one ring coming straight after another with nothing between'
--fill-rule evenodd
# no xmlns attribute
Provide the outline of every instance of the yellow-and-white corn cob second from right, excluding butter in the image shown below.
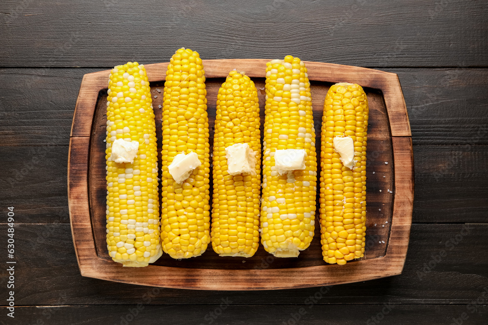
<svg viewBox="0 0 488 325"><path fill-rule="evenodd" d="M266 65L261 242L277 257L292 257L310 245L315 224L317 161L310 83L297 57ZM282 149L305 149L305 170L280 176L274 153Z"/></svg>

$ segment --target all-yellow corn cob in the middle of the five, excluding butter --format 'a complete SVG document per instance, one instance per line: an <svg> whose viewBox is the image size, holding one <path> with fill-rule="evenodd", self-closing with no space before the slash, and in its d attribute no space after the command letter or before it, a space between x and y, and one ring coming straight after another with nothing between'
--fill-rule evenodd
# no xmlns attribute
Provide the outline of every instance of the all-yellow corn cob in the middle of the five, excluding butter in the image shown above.
<svg viewBox="0 0 488 325"><path fill-rule="evenodd" d="M261 137L258 93L244 72L231 71L219 89L213 151L212 247L220 256L253 256L259 246ZM246 143L255 172L229 175L225 148Z"/></svg>

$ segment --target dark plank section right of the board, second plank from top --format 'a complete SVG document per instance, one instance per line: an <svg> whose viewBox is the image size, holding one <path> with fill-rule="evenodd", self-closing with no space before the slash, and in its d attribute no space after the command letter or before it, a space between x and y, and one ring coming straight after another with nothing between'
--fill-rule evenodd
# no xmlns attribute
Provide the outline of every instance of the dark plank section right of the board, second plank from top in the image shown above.
<svg viewBox="0 0 488 325"><path fill-rule="evenodd" d="M414 144L488 143L488 69L386 69L398 74Z"/></svg>

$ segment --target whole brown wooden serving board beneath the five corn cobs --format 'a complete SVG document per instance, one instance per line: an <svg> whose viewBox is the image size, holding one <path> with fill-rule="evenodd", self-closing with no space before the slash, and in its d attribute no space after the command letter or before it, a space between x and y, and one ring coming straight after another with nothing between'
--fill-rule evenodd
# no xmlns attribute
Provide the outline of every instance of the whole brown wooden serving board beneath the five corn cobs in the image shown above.
<svg viewBox="0 0 488 325"><path fill-rule="evenodd" d="M217 93L231 70L245 71L255 82L263 127L264 71L267 61L203 60L211 129L210 146L213 143ZM159 105L163 105L167 65L167 62L145 65L151 82L156 130L160 140L162 110ZM122 268L121 264L113 262L108 256L105 242L103 140L109 76L109 70L105 70L83 76L70 136L68 204L81 275L156 287L262 290L328 286L400 274L407 255L412 223L413 153L407 107L398 76L337 64L305 62L305 65L311 83L318 159L322 111L330 85L336 82L358 83L364 87L368 97L367 230L364 258L344 266L326 264L322 259L320 227L315 227L310 247L302 251L298 258L275 258L261 244L251 258L220 257L209 245L202 256L187 260L173 260L163 253L156 263L146 268ZM318 165L317 174L320 175L320 163ZM317 189L317 206L318 193ZM318 220L316 225L319 225Z"/></svg>

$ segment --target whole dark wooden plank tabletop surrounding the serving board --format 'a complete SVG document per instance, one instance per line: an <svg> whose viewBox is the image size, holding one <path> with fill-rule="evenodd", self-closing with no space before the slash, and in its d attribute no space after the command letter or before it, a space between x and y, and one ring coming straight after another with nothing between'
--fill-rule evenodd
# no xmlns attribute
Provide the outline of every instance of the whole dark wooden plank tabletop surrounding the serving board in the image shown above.
<svg viewBox="0 0 488 325"><path fill-rule="evenodd" d="M476 0L0 2L0 324L487 324L488 4ZM415 160L401 275L192 291L84 278L67 208L81 77L127 60L279 58L399 75ZM15 207L8 289L7 207ZM7 316L15 290L15 318Z"/></svg>

